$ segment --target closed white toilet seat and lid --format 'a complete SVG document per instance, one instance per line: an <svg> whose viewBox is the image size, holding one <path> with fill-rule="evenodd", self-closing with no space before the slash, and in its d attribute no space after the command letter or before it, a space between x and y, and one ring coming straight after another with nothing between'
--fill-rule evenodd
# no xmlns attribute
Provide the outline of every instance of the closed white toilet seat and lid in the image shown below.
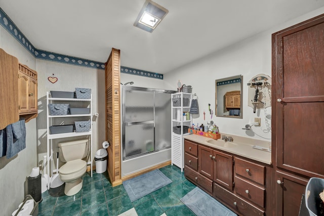
<svg viewBox="0 0 324 216"><path fill-rule="evenodd" d="M63 182L73 181L82 177L87 171L87 162L81 159L68 161L59 169L60 178Z"/></svg>

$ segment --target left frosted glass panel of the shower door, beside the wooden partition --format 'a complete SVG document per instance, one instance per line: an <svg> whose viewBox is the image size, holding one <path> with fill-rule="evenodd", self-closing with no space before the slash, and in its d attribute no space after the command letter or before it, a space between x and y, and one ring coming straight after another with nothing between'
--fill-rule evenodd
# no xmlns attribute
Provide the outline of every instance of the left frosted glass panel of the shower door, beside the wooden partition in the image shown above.
<svg viewBox="0 0 324 216"><path fill-rule="evenodd" d="M124 89L123 159L154 151L154 93Z"/></svg>

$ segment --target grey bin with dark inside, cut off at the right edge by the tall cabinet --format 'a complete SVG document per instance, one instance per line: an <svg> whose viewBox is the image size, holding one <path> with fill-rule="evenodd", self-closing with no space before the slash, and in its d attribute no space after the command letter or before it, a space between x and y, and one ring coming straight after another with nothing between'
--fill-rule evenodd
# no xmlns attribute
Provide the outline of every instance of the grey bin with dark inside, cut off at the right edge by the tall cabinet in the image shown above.
<svg viewBox="0 0 324 216"><path fill-rule="evenodd" d="M323 202L320 199L319 194L324 190L324 179L323 178L310 178L306 186L305 197L306 197L306 208L308 209L309 215L323 215Z"/></svg>

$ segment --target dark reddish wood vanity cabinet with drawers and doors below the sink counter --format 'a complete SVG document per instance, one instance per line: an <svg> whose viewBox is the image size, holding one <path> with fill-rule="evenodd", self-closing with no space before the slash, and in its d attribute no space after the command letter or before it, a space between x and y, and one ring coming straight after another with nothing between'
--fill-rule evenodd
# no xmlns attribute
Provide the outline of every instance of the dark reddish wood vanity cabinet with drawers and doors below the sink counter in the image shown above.
<svg viewBox="0 0 324 216"><path fill-rule="evenodd" d="M185 139L184 174L192 183L239 215L272 213L272 168ZM269 179L268 179L269 180ZM269 193L266 193L266 191Z"/></svg>

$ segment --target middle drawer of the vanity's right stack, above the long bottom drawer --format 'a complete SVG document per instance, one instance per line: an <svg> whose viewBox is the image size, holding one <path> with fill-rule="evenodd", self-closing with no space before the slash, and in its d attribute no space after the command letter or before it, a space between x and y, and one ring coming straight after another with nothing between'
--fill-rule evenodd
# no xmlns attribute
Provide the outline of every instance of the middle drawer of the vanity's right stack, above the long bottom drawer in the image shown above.
<svg viewBox="0 0 324 216"><path fill-rule="evenodd" d="M265 189L252 185L248 181L237 176L234 178L235 193L241 197L251 200L255 204L264 208Z"/></svg>

